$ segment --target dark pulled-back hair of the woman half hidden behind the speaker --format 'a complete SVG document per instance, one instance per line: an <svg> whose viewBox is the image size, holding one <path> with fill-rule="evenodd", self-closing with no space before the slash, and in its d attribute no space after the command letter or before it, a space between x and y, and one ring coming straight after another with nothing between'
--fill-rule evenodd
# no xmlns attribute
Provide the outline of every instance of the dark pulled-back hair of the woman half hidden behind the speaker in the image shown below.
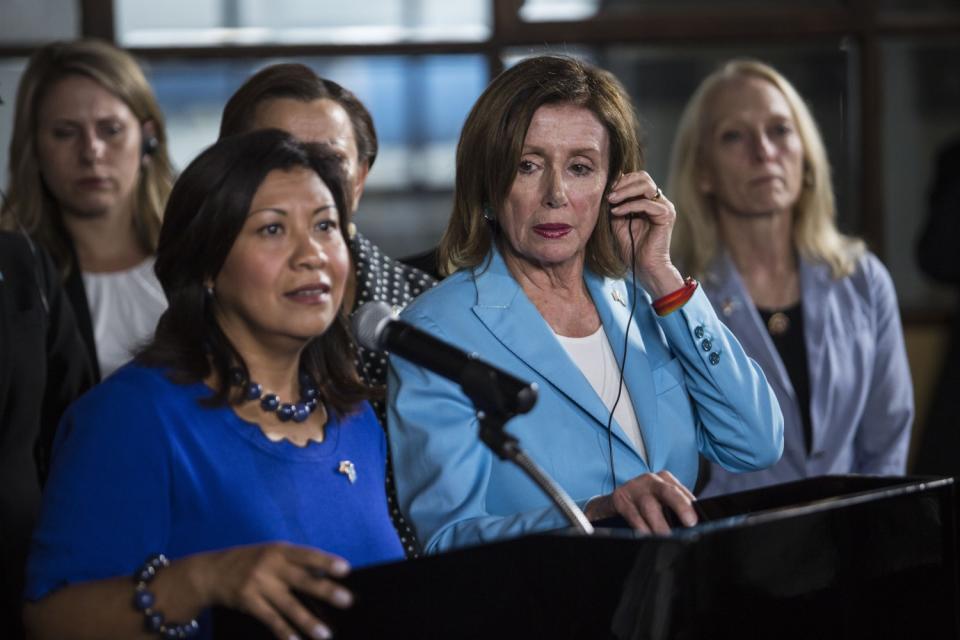
<svg viewBox="0 0 960 640"><path fill-rule="evenodd" d="M313 102L326 98L333 100L347 112L357 141L357 155L361 163L373 166L377 159L377 131L373 118L363 103L349 89L333 80L321 78L303 64L284 63L265 67L250 76L230 97L220 119L220 137L250 131L254 127L257 109L270 100L291 98Z"/></svg>

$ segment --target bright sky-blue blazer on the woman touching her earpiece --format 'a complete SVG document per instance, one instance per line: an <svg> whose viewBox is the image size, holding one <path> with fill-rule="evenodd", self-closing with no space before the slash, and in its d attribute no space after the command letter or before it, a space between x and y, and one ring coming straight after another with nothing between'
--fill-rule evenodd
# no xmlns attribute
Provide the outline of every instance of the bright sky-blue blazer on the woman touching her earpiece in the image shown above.
<svg viewBox="0 0 960 640"><path fill-rule="evenodd" d="M776 397L701 289L660 318L638 288L628 331L628 283L589 272L585 281L618 359L628 341L624 379L647 452L644 461L614 421L618 485L667 469L692 487L697 451L733 471L779 459ZM423 293L402 318L536 382L536 405L508 422L508 431L581 507L610 493L609 412L499 253L485 270L460 271ZM532 481L479 440L475 411L459 385L391 357L387 388L399 503L427 552L566 525Z"/></svg>

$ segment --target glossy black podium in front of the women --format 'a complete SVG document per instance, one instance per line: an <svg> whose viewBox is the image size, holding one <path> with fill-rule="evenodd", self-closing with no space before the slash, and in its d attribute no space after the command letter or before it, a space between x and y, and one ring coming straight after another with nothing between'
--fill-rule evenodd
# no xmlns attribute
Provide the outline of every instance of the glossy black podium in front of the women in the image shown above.
<svg viewBox="0 0 960 640"><path fill-rule="evenodd" d="M670 536L601 523L354 571L334 637L960 638L951 478L825 476L697 503ZM218 638L270 638L214 614Z"/></svg>

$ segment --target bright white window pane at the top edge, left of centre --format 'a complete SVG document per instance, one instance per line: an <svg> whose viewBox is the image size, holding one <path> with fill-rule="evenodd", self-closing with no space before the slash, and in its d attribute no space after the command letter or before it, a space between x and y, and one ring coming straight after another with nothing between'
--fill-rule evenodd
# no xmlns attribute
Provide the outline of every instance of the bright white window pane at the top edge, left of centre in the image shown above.
<svg viewBox="0 0 960 640"><path fill-rule="evenodd" d="M127 46L481 41L489 0L116 0Z"/></svg>

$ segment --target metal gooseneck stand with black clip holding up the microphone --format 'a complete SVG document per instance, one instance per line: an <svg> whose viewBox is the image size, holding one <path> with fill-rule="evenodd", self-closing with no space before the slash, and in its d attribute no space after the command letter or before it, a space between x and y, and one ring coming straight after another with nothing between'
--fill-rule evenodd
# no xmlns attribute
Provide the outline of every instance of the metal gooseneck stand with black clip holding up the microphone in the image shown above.
<svg viewBox="0 0 960 640"><path fill-rule="evenodd" d="M469 363L460 375L460 386L477 408L480 439L483 443L490 447L501 460L509 460L520 467L527 477L547 494L574 529L585 535L591 535L593 525L577 503L527 456L520 448L520 442L504 429L507 420L517 414L528 412L533 408L534 402L506 397L497 384L495 376L491 375L488 369L472 367ZM528 389L532 392L528 397L532 396L535 400L536 386L531 385Z"/></svg>

